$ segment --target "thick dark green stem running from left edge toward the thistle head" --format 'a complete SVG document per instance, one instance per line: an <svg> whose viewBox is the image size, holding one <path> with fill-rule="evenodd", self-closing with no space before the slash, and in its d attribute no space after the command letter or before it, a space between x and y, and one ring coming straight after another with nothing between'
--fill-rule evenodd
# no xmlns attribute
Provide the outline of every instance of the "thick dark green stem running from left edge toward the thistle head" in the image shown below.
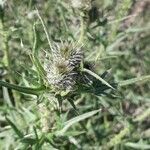
<svg viewBox="0 0 150 150"><path fill-rule="evenodd" d="M33 95L39 95L41 91L45 89L44 86L41 86L39 88L28 88L28 87L23 87L23 86L18 86L14 84L10 84L8 82L4 82L0 80L0 86L7 87L9 89L16 90L21 93L26 93L26 94L33 94Z"/></svg>

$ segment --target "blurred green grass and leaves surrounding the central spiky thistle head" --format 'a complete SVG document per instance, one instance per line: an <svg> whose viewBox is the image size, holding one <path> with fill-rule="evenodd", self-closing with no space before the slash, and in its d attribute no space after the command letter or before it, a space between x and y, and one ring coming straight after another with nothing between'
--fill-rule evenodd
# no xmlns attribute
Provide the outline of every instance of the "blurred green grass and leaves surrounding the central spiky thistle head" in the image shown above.
<svg viewBox="0 0 150 150"><path fill-rule="evenodd" d="M50 40L82 40L84 65L115 90L61 93L57 109L37 65L49 52L37 9ZM149 9L149 0L0 0L0 150L150 149Z"/></svg>

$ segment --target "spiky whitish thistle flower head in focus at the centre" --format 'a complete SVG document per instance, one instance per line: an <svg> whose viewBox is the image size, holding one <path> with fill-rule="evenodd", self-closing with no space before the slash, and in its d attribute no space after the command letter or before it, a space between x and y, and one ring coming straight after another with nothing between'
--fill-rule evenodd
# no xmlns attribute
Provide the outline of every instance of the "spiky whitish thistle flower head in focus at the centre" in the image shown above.
<svg viewBox="0 0 150 150"><path fill-rule="evenodd" d="M83 59L82 46L74 43L54 43L51 58L45 61L47 81L57 89L72 89L78 75L77 68Z"/></svg>

